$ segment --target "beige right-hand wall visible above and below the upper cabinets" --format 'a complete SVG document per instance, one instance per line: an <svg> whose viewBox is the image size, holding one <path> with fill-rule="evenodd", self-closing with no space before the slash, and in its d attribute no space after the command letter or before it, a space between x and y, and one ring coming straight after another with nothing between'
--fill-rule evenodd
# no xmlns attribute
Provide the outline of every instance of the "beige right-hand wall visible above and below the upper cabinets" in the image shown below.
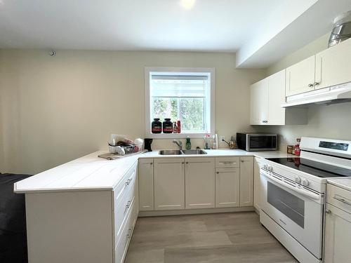
<svg viewBox="0 0 351 263"><path fill-rule="evenodd" d="M329 34L326 34L286 58L279 60L267 69L267 75L278 72L300 60L310 57L310 55L325 50L328 45L328 40ZM294 144L296 138L301 136L351 140L350 112L351 102L329 106L314 105L308 108L307 125L266 127L261 130L282 135L281 149L284 149L286 144Z"/></svg>

